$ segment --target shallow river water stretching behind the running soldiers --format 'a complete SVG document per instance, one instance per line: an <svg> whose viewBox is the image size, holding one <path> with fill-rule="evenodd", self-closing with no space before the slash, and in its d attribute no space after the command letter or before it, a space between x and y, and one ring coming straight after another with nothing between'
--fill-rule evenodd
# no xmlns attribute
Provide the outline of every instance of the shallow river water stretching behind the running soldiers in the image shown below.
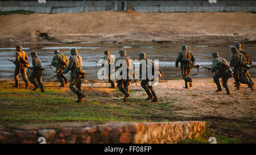
<svg viewBox="0 0 256 155"><path fill-rule="evenodd" d="M197 64L210 67L212 65L213 51L217 51L220 56L230 61L232 52L230 48L234 43L230 44L187 44L189 50L191 50L195 57ZM119 49L125 49L127 55L133 60L138 59L138 53L144 51L147 58L152 60L159 60L159 66L162 68L164 76L161 79L181 79L180 68L175 68L175 61L177 53L180 51L181 44L56 44L56 45L24 45L23 51L25 51L30 58L28 62L32 65L32 58L30 52L35 51L38 53L38 57L42 61L42 65L51 64L53 51L59 49L60 53L64 53L68 57L70 56L70 49L77 48L79 55L82 57L82 68L86 69L86 79L98 79L97 72L100 66L96 66L95 61L104 57L104 51L109 50L111 55L118 57ZM244 49L251 57L253 64L256 61L256 45L255 44L243 44ZM0 45L0 79L13 79L14 68L13 62L6 60L15 59L15 45ZM46 70L43 72L43 79L51 78L55 76L55 73L45 66ZM55 70L54 67L52 67ZM256 69L250 69L252 77L256 76ZM197 73L196 69L193 69L191 73ZM31 71L30 71L31 74ZM67 73L69 77L70 73ZM192 78L210 78L213 73L209 73L207 69L200 68L200 74L192 76Z"/></svg>

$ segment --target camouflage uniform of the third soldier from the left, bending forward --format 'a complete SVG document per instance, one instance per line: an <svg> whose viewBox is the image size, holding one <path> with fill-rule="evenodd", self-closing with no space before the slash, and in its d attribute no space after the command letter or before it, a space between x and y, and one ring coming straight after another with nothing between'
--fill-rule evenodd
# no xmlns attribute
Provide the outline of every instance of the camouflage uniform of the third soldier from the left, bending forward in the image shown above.
<svg viewBox="0 0 256 155"><path fill-rule="evenodd" d="M56 55L52 58L52 64L51 65L56 66L56 73L63 72L63 70L68 65L68 63L67 64L61 64L60 63L62 58L63 58L63 55L61 55L59 52L56 53ZM69 82L68 79L64 76L64 74L57 74L56 78L61 83L60 86L65 86Z"/></svg>

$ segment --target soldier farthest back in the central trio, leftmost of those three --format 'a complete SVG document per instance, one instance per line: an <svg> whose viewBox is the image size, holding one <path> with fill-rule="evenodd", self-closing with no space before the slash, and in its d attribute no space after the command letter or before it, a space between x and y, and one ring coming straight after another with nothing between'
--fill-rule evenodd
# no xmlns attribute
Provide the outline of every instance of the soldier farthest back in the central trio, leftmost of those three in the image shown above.
<svg viewBox="0 0 256 155"><path fill-rule="evenodd" d="M105 62L105 64L102 63L102 67L103 67L104 65L108 65L108 67L109 67L109 70L108 70L108 74L109 74L109 76L108 76L108 81L109 81L109 83L111 83L111 87L112 87L112 88L115 88L115 83L114 83L114 81L113 81L113 79L112 79L111 67L110 67L110 66L114 65L114 62L116 61L116 58L111 57L111 56L109 55L109 51L108 51L108 50L107 50L107 51L104 51L104 54L105 54L105 57L103 58L103 60L106 60L106 62Z"/></svg>

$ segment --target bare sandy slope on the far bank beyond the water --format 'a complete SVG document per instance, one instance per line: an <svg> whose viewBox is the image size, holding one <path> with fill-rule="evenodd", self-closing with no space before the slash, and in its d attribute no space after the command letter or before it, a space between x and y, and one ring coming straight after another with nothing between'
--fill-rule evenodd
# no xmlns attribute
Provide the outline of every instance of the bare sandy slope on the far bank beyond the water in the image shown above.
<svg viewBox="0 0 256 155"><path fill-rule="evenodd" d="M1 15L0 43L256 41L255 19L250 12L133 10Z"/></svg>

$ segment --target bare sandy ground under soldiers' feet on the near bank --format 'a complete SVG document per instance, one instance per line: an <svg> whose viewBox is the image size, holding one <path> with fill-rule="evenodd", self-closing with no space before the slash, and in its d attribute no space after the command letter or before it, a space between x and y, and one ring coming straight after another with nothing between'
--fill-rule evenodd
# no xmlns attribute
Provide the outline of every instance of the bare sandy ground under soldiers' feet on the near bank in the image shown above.
<svg viewBox="0 0 256 155"><path fill-rule="evenodd" d="M254 78L256 81L256 78ZM161 81L154 86L160 102L173 102L175 116L183 118L216 117L225 119L251 119L256 118L256 91L251 91L247 85L241 86L241 91L236 91L233 85L234 79L230 78L228 86L232 95L226 95L225 88L215 93L217 86L212 78L194 79L190 89L184 88L183 80ZM84 86L105 87L109 83L92 82ZM147 94L140 83L131 85L131 97L146 98ZM120 98L120 97L119 97ZM123 98L123 97L121 97ZM120 99L121 99L120 98Z"/></svg>

